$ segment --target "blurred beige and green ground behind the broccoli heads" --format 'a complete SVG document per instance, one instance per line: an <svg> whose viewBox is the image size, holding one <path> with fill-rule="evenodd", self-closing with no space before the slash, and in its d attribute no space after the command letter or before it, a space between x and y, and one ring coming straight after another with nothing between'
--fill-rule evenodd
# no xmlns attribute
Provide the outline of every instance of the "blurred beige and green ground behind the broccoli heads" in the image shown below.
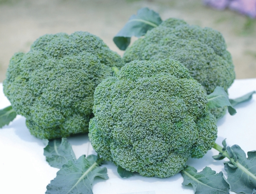
<svg viewBox="0 0 256 194"><path fill-rule="evenodd" d="M29 51L44 34L88 31L123 55L113 36L142 7L154 9L162 20L180 18L220 31L237 79L256 78L256 19L208 7L202 0L0 0L0 82L12 55Z"/></svg>

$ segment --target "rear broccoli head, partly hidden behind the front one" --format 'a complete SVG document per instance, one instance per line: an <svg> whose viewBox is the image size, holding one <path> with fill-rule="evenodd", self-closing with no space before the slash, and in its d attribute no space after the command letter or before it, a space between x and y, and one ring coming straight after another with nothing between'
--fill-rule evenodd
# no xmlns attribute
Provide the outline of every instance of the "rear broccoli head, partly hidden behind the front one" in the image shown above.
<svg viewBox="0 0 256 194"><path fill-rule="evenodd" d="M189 25L184 20L170 18L147 31L136 40L123 56L125 62L136 59L157 61L172 58L189 69L207 94L217 86L227 88L235 79L234 65L220 32L211 28ZM212 110L219 118L226 107Z"/></svg>

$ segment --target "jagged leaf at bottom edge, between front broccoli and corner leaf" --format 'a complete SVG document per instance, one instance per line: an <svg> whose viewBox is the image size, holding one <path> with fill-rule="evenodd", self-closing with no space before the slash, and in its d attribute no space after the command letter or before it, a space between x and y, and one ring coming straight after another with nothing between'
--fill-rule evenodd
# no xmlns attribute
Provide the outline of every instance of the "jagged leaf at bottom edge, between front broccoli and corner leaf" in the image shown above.
<svg viewBox="0 0 256 194"><path fill-rule="evenodd" d="M182 185L193 186L196 194L218 193L228 194L230 186L222 172L216 174L210 167L205 167L202 172L197 172L194 167L187 166L181 171L184 178Z"/></svg>

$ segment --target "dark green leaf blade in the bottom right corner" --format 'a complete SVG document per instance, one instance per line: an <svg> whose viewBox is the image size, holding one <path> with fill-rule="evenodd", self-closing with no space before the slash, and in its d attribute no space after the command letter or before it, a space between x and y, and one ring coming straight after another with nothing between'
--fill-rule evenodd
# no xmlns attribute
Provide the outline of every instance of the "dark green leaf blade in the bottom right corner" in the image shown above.
<svg viewBox="0 0 256 194"><path fill-rule="evenodd" d="M231 162L225 163L231 190L251 194L256 188L256 151L247 152L246 158L245 152L238 145L233 145L231 150L237 157L237 162L232 162L232 165Z"/></svg>

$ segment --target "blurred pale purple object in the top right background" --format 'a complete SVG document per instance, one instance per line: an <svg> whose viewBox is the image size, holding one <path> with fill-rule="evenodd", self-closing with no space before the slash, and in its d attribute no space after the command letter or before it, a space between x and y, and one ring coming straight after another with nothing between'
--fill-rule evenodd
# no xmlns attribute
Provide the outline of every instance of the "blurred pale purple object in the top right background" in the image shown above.
<svg viewBox="0 0 256 194"><path fill-rule="evenodd" d="M256 18L256 0L203 0L203 3L219 10L230 8L251 18Z"/></svg>

